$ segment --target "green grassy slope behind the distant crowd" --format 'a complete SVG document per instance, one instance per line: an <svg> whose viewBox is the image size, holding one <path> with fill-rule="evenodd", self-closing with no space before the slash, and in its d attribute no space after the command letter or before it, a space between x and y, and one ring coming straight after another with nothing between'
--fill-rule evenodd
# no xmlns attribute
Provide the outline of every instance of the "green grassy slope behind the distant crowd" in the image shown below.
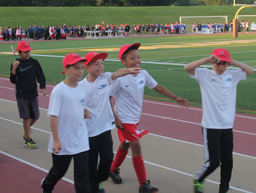
<svg viewBox="0 0 256 193"><path fill-rule="evenodd" d="M118 26L129 22L146 25L152 22L176 22L180 16L227 15L230 22L240 7L0 7L0 26L23 29L28 25L81 25L113 23ZM242 9L239 15L255 15L255 7ZM256 19L255 19L256 20ZM218 21L217 21L218 22ZM187 23L189 24L189 23ZM193 23L194 24L194 23Z"/></svg>

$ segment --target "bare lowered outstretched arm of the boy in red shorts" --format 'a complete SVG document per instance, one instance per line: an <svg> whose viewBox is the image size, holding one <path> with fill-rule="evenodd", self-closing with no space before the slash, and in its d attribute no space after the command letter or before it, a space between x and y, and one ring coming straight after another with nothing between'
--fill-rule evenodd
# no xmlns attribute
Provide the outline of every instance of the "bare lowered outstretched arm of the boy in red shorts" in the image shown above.
<svg viewBox="0 0 256 193"><path fill-rule="evenodd" d="M182 107L188 107L189 103L186 99L182 99L179 96L177 96L176 94L170 92L169 90L167 90L164 86L157 84L157 86L155 88L153 88L155 91L157 91L160 94L163 94L165 96L167 96L170 99L175 100L180 106Z"/></svg>

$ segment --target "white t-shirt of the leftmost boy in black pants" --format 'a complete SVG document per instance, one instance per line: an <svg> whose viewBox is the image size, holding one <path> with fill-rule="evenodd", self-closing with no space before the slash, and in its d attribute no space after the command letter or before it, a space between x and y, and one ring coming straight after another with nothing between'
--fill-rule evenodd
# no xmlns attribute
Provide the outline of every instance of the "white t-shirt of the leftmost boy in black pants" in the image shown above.
<svg viewBox="0 0 256 193"><path fill-rule="evenodd" d="M74 155L89 150L89 139L84 109L88 98L88 88L82 84L76 88L61 82L51 93L48 115L58 117L58 135L62 149L57 155ZM53 153L51 134L48 151Z"/></svg>

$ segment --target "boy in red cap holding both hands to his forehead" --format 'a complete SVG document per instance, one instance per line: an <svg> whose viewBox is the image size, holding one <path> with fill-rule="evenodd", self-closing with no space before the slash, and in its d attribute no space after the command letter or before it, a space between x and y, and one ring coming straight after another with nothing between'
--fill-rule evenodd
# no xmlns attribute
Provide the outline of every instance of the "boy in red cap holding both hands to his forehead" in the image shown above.
<svg viewBox="0 0 256 193"><path fill-rule="evenodd" d="M211 63L213 69L199 68ZM240 70L229 70L233 65ZM207 160L193 178L193 192L204 192L204 178L219 167L221 183L219 193L228 191L233 167L233 122L236 112L237 84L253 74L253 69L233 60L225 49L216 49L210 57L191 62L185 66L191 78L200 84L203 118L202 133L204 156Z"/></svg>

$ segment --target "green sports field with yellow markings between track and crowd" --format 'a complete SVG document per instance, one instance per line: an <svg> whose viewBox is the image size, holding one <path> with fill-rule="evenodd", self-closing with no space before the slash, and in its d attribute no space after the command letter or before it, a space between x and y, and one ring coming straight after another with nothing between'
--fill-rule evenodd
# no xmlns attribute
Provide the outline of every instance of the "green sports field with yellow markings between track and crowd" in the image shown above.
<svg viewBox="0 0 256 193"><path fill-rule="evenodd" d="M186 98L191 105L201 106L201 93L198 83L184 71L184 65L205 58L219 47L230 52L231 58L256 67L256 38L255 34L239 34L232 38L231 34L197 35L197 36L162 36L118 39L79 39L68 41L31 42L33 58L37 59L46 75L47 83L57 84L65 75L61 74L62 59L66 54L75 52L84 56L89 52L107 52L104 61L104 71L114 72L124 66L118 59L119 48L126 43L140 42L141 67L168 90ZM16 49L17 43L12 43ZM0 53L10 52L11 44L0 44ZM1 76L9 77L10 65L15 57L10 54L0 54ZM207 64L209 65L209 64ZM85 71L84 77L87 73ZM256 74L238 84L237 112L256 114ZM145 88L144 97L147 99L170 101L154 90Z"/></svg>

